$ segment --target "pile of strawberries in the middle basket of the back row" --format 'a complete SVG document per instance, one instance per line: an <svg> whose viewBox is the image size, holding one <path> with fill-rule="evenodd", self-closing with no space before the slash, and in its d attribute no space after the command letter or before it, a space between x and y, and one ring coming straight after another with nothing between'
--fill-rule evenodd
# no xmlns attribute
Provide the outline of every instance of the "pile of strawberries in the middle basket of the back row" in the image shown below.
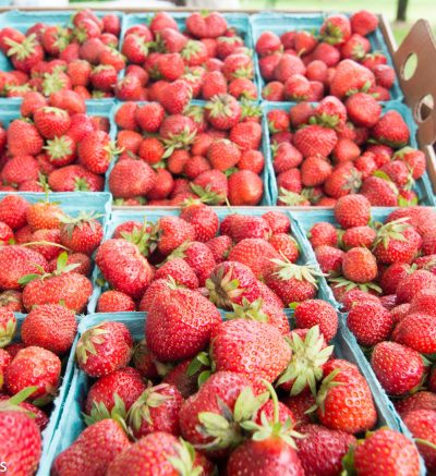
<svg viewBox="0 0 436 476"><path fill-rule="evenodd" d="M149 25L124 34L121 52L129 65L117 98L155 101L183 91L206 100L218 94L256 99L252 51L241 35L218 12L191 13L185 32L168 13L156 13Z"/></svg>

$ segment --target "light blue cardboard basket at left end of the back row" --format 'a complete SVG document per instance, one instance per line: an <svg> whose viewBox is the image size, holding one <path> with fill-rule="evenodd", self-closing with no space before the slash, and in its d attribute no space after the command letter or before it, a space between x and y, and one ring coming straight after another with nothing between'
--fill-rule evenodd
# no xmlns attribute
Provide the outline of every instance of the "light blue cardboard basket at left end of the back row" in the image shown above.
<svg viewBox="0 0 436 476"><path fill-rule="evenodd" d="M105 14L114 14L120 19L121 28L123 27L125 14L120 11L98 11L93 10L97 16L101 17ZM40 10L40 11L22 11L22 10L9 10L0 13L0 29L8 26L12 28L16 28L22 33L25 33L28 28L31 28L36 23L45 23L47 25L61 25L68 26L71 24L71 17L75 13L74 10L60 10L60 11L49 11L49 10ZM11 71L12 64L8 57L0 51L0 71ZM120 76L120 74L119 74ZM10 101L11 98L0 98L0 106L4 101ZM12 100L16 100L16 98L12 98ZM107 102L112 105L114 102L114 98L99 98L99 99L88 99L86 103L94 102Z"/></svg>

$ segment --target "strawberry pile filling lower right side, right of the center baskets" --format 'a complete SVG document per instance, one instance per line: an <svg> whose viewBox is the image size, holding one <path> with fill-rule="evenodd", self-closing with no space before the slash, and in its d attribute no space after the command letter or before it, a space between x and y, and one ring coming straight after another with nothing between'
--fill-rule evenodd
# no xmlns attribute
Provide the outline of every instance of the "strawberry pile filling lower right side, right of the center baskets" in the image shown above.
<svg viewBox="0 0 436 476"><path fill-rule="evenodd" d="M352 195L338 200L335 219L341 229L318 222L310 231L316 258L348 312L349 329L435 471L436 212L402 208L378 223L370 202Z"/></svg>

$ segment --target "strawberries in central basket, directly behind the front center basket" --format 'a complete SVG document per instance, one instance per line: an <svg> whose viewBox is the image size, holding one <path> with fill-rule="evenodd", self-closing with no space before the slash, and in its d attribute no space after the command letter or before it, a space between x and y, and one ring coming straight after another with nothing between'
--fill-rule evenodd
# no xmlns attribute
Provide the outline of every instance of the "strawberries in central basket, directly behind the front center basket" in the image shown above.
<svg viewBox="0 0 436 476"><path fill-rule="evenodd" d="M185 204L180 217L164 216L156 223L128 220L97 249L96 264L111 286L97 310L148 310L170 280L221 309L258 314L289 331L283 307L314 300L320 276L317 267L296 264L300 248L290 228L278 211L231 213L219 223L214 209L199 200ZM336 314L320 326L335 335Z"/></svg>

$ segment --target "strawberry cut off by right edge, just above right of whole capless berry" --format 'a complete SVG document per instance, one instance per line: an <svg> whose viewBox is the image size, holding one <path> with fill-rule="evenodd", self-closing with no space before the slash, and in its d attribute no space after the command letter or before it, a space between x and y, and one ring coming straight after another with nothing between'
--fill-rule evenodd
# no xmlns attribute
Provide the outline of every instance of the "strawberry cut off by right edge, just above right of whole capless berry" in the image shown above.
<svg viewBox="0 0 436 476"><path fill-rule="evenodd" d="M422 354L432 354L435 345L436 318L426 314L410 314L397 325L395 341Z"/></svg>

